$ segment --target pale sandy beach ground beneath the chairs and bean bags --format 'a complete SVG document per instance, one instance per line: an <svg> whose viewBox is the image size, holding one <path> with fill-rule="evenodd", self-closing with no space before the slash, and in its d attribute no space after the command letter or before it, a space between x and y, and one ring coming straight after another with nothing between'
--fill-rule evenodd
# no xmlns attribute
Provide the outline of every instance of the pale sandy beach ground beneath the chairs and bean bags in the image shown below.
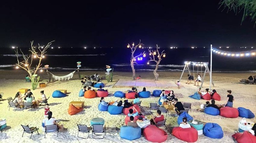
<svg viewBox="0 0 256 143"><path fill-rule="evenodd" d="M55 75L63 76L68 74L69 72L52 72ZM80 74L92 75L96 72L80 72ZM104 75L105 72L97 72L100 76ZM176 82L179 80L181 72L158 72L159 80L169 80L171 82ZM48 82L49 79L45 72L38 73L41 76L40 83L46 83L46 87L38 88L33 92L35 98L40 98L40 91L44 90L46 97L50 96L48 103L50 104L50 110L53 113L53 117L57 119L58 122L64 125L64 130L59 132L59 137L55 137L55 134L49 134L47 138L44 138L44 132L41 130L41 121L43 119L44 107L37 107L32 111L27 109L24 111L17 109L14 111L13 108L8 111L7 108L8 103L6 98L12 97L14 98L17 91L21 88L31 89L30 83L25 83L24 77L27 73L25 71L0 71L0 92L4 93L4 101L0 100L0 119L6 119L7 127L3 130L3 133L0 133L0 142L149 142L144 137L140 139L129 141L120 138L119 132L120 127L124 125L124 114L120 115L110 115L108 112L101 112L98 110L99 100L100 98L86 99L84 97L78 97L78 92L81 89L81 82L78 80L77 72L74 74L73 79L69 81L54 81ZM249 84L239 84L239 80L246 79L250 75L254 76L255 73L212 73L213 81L215 87L212 87L212 90L215 89L221 95L221 101L216 101L216 104L224 104L227 100L227 90L232 90L232 95L235 98L234 108L244 107L250 109L253 113L256 113L256 106L254 103L256 102L255 93L256 93L256 85ZM109 90L109 96L105 98L106 101L112 100L120 100L120 98L114 97L113 94L115 91L125 91L127 88L112 88L115 82L118 79L131 79L132 72L114 72L113 74L113 82L107 83L107 81L103 81L106 85L104 89ZM153 79L152 72L137 72L136 75L141 75L143 79ZM212 122L219 124L223 131L224 137L222 139L212 139L208 138L204 135L199 135L197 142L200 143L215 143L215 142L225 142L231 143L235 142L231 137L235 131L238 130L238 123L242 119L238 118L225 118L222 116L211 116L207 115L203 112L197 111L196 109L200 108L200 104L205 103L206 100L195 100L189 98L189 95L192 95L197 91L198 87L193 84L185 84L187 79L187 73L183 75L181 80L181 86L184 88L181 89L161 89L159 90L173 90L174 93L180 93L179 101L192 103L192 112L189 111L189 114L194 118L201 120L203 122ZM209 87L209 75L207 74L204 81L203 90ZM65 89L68 92L68 96L64 98L52 98L52 92L59 89ZM139 90L142 90L139 89ZM147 88L147 91L153 91L156 88ZM145 115L148 119L151 119L149 112L149 103L158 103L158 97L151 96L150 98L140 99L142 101L142 114ZM123 100L123 99L122 99ZM71 101L84 101L85 108L82 112L70 116L67 112L69 102ZM132 100L129 100L132 101ZM156 113L154 113L156 114ZM165 114L164 114L165 115ZM95 117L100 117L105 119L106 125L106 136L104 139L93 139L91 138L91 133L88 139L82 139L77 137L78 128L76 124L85 124L89 126L90 120ZM171 135L171 127L178 126L177 117L174 117L174 113L170 112L167 117L166 126L168 132L168 139L166 142L175 142L180 143L183 142L180 139ZM247 119L247 121L253 121L254 119ZM37 127L39 128L39 135L34 133L32 138L29 139L29 134L24 134L22 138L23 129L22 125L29 125L29 127Z"/></svg>

